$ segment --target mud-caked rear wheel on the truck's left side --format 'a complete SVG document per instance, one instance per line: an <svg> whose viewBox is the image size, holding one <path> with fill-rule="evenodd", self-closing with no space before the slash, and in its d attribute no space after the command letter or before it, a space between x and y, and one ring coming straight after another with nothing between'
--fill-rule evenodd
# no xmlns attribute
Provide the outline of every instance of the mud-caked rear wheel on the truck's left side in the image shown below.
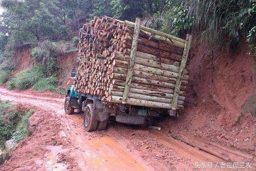
<svg viewBox="0 0 256 171"><path fill-rule="evenodd" d="M83 126L87 132L95 131L98 125L98 121L95 119L95 112L93 104L87 104L86 110L83 114Z"/></svg>

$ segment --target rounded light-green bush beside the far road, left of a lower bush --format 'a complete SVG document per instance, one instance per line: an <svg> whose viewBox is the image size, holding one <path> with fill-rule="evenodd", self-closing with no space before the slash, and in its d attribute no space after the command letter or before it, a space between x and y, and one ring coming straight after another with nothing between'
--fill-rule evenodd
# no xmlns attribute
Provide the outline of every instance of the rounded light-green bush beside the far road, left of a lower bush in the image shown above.
<svg viewBox="0 0 256 171"><path fill-rule="evenodd" d="M15 75L13 79L9 81L9 89L26 90L34 86L34 84L44 77L44 73L39 66L33 66L31 69L23 70Z"/></svg>

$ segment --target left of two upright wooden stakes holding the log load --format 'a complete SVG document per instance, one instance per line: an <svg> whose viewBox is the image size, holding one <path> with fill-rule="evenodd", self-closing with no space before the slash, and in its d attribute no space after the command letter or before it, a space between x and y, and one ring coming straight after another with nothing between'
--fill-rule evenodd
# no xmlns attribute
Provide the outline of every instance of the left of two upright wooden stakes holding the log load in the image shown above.
<svg viewBox="0 0 256 171"><path fill-rule="evenodd" d="M127 101L129 89L130 89L131 82L132 82L134 58L135 58L135 54L137 51L138 38L139 38L139 34L140 34L140 23L141 23L140 18L136 18L134 35L133 35L133 44L132 44L131 55L130 55L130 63L129 63L128 71L127 71L127 76L126 76L126 81L125 81L125 86L124 86L124 91L123 91L123 98L122 98L122 103L124 103L124 104Z"/></svg>

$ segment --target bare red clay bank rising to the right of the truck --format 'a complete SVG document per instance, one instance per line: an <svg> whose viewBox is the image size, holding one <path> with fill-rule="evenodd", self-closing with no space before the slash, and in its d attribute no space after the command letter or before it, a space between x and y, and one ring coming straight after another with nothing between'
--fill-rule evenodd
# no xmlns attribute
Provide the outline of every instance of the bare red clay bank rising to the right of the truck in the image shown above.
<svg viewBox="0 0 256 171"><path fill-rule="evenodd" d="M186 108L165 132L196 135L256 155L256 58L244 39L237 52L209 51L194 42Z"/></svg>

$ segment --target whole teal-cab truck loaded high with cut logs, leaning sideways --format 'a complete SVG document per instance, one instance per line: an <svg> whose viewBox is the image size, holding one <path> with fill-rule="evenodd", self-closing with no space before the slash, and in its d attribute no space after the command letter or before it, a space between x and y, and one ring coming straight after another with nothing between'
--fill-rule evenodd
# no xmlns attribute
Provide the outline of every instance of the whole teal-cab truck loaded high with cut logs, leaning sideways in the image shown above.
<svg viewBox="0 0 256 171"><path fill-rule="evenodd" d="M117 122L144 124L183 108L191 35L181 39L136 23L94 17L79 32L79 67L67 92L65 112L84 111L86 131Z"/></svg>

